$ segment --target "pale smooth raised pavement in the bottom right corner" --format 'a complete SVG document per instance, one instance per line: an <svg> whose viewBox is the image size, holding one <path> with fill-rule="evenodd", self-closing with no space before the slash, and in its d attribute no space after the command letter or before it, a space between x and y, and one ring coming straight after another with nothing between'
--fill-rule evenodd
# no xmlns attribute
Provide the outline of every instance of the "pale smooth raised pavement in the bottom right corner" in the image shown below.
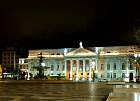
<svg viewBox="0 0 140 101"><path fill-rule="evenodd" d="M140 101L140 84L113 84L113 92L109 94L107 101Z"/></svg>

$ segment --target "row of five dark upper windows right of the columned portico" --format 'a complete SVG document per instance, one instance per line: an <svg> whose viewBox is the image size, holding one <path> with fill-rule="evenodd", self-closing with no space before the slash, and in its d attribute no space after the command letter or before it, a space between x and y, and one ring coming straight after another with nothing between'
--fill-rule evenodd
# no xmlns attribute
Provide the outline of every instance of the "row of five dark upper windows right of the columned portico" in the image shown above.
<svg viewBox="0 0 140 101"><path fill-rule="evenodd" d="M126 65L125 63L122 63L122 66L121 66L121 69L122 70L126 70ZM129 70L133 70L133 64L130 63L129 64ZM104 64L101 64L101 70L104 70ZM107 70L110 70L110 64L107 64ZM117 65L116 63L113 64L113 70L117 70Z"/></svg>

